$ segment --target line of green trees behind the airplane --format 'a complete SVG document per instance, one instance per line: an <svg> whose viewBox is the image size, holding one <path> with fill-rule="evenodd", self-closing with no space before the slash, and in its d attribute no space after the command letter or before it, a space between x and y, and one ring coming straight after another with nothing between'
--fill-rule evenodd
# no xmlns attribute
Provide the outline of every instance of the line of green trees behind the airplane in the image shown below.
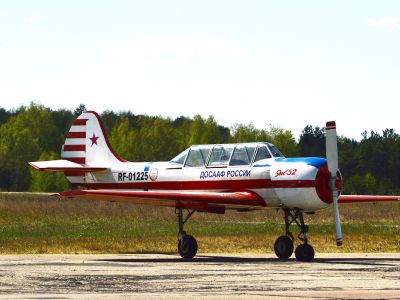
<svg viewBox="0 0 400 300"><path fill-rule="evenodd" d="M73 120L83 111L52 110L31 103L15 110L0 107L0 190L55 192L73 188L62 173L37 172L29 161L60 159L61 146ZM130 161L170 160L193 144L268 141L287 157L325 157L325 128L307 125L299 140L291 131L252 124L231 128L213 116L176 119L135 115L130 111L101 114L114 150ZM346 194L400 192L400 136L393 129L363 132L356 141L339 137L339 166Z"/></svg>

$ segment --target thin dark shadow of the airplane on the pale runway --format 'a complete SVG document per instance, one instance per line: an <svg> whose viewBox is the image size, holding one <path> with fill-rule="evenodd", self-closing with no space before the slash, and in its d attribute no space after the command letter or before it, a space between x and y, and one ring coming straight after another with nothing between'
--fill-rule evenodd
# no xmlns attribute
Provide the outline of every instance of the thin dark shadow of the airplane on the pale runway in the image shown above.
<svg viewBox="0 0 400 300"><path fill-rule="evenodd" d="M121 263L184 263L184 262L198 262L198 263L302 263L298 262L294 257L289 259L277 259L273 258L265 258L265 257L237 257L237 256L211 256L211 255L197 255L192 259L183 259L174 252L140 252L140 253L124 253L124 254L161 254L161 255L169 255L173 257L159 257L159 258L151 258L151 257L143 257L143 258L115 258L115 259L99 259L97 261L106 261L106 262L121 262ZM391 265L390 262L400 262L398 258L373 258L373 257L337 257L337 258L315 258L312 263L320 263L320 264L350 264L350 265L363 265L363 266L385 266Z"/></svg>

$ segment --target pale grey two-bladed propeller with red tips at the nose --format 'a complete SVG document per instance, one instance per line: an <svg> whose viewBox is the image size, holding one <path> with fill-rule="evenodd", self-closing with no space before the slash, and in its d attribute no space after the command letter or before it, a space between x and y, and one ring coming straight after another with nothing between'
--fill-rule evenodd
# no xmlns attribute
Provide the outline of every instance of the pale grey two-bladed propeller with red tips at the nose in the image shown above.
<svg viewBox="0 0 400 300"><path fill-rule="evenodd" d="M340 215L338 207L339 191L336 186L337 174L338 174L338 148L337 148L337 134L336 134L336 123L330 121L326 123L326 159L328 161L328 169L331 173L329 181L330 188L332 191L333 200L333 214L335 218L335 230L336 230L336 244L341 246L343 243L342 238L342 227L340 225Z"/></svg>

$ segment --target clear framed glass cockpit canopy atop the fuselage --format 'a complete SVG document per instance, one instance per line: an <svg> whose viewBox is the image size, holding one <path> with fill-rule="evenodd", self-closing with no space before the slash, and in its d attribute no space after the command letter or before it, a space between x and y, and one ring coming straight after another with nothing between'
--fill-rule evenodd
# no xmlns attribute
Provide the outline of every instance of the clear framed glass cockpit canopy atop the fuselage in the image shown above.
<svg viewBox="0 0 400 300"><path fill-rule="evenodd" d="M248 166L273 157L284 156L271 143L193 145L170 163L185 167Z"/></svg>

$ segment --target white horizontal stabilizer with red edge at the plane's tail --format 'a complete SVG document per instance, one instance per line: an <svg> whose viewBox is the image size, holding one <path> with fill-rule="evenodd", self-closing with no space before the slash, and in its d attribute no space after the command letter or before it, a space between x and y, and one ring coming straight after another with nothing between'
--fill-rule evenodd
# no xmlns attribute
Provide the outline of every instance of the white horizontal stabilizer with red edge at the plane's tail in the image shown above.
<svg viewBox="0 0 400 300"><path fill-rule="evenodd" d="M47 161L34 161L29 163L33 168L38 171L82 171L82 172L95 172L107 170L107 167L90 167L82 166L69 160L47 160Z"/></svg>

